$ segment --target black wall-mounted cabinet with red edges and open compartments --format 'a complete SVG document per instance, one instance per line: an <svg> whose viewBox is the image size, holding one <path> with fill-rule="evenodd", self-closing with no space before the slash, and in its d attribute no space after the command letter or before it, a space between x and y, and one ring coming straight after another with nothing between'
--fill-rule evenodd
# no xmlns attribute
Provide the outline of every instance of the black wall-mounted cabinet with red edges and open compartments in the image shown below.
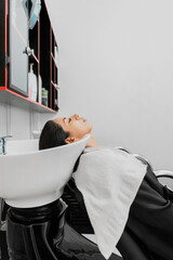
<svg viewBox="0 0 173 260"><path fill-rule="evenodd" d="M28 28L28 15L18 0L1 0L0 13L0 102L37 112L56 113L58 48L44 0L41 1L40 16L34 29ZM31 50L32 53L25 53L24 50ZM29 96L27 86L31 63L37 76L36 101Z"/></svg>

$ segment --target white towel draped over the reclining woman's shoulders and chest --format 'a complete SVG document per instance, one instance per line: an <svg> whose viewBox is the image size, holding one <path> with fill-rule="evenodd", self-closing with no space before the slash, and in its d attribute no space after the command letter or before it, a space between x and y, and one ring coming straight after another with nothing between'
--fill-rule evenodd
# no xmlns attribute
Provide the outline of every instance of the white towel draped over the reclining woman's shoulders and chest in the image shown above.
<svg viewBox="0 0 173 260"><path fill-rule="evenodd" d="M120 239L146 165L119 148L85 148L75 181L102 255L108 259Z"/></svg>

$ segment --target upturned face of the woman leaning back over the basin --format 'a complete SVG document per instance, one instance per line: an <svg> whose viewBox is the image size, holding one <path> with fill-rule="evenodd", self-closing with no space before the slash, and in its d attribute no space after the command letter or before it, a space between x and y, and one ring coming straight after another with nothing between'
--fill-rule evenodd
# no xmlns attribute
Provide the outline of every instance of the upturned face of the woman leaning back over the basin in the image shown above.
<svg viewBox="0 0 173 260"><path fill-rule="evenodd" d="M58 117L53 121L61 125L65 132L69 132L69 138L76 140L82 139L86 133L91 133L92 130L91 123L77 114L70 117Z"/></svg>

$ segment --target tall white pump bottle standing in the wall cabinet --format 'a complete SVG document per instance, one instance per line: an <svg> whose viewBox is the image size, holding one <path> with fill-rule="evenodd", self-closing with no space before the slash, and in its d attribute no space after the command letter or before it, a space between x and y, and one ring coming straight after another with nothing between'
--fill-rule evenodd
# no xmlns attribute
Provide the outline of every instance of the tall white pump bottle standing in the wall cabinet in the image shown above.
<svg viewBox="0 0 173 260"><path fill-rule="evenodd" d="M28 90L29 99L37 101L37 77L34 74L34 63L30 63L30 68L28 73Z"/></svg>

